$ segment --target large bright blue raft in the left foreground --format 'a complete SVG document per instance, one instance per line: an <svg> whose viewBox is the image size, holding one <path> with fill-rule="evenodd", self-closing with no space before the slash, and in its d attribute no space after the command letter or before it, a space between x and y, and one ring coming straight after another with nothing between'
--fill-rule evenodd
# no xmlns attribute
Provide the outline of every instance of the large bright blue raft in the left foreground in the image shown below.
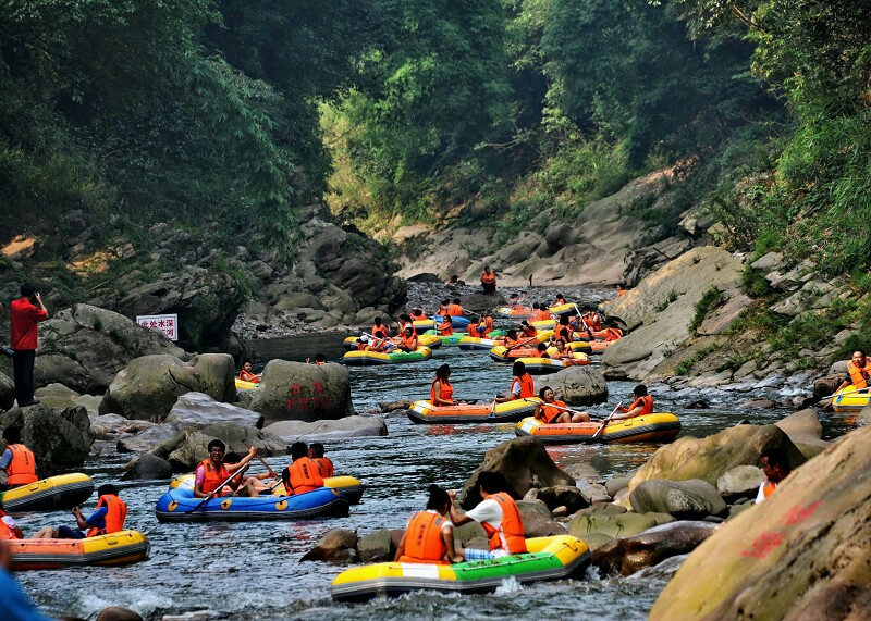
<svg viewBox="0 0 871 621"><path fill-rule="evenodd" d="M158 498L159 522L250 522L347 517L348 501L338 489L320 487L294 496L195 498L187 487L170 489Z"/></svg>

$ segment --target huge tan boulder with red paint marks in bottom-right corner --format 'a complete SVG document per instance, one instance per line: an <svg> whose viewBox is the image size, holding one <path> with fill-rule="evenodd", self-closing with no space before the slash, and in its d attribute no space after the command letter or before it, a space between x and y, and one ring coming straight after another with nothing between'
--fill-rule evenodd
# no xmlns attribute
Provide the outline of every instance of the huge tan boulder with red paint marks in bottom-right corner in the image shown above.
<svg viewBox="0 0 871 621"><path fill-rule="evenodd" d="M869 446L871 429L847 434L721 525L689 555L650 619L866 619Z"/></svg>

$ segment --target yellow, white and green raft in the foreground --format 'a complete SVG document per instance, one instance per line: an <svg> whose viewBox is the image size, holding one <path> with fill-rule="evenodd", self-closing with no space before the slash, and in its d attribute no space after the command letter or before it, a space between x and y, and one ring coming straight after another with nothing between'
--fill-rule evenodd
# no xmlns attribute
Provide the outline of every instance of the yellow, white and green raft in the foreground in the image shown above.
<svg viewBox="0 0 871 621"><path fill-rule="evenodd" d="M525 554L493 560L384 562L348 569L333 580L332 596L338 601L366 601L413 591L488 593L508 577L528 583L581 576L590 563L587 545L571 535L527 539L526 547L529 551Z"/></svg>

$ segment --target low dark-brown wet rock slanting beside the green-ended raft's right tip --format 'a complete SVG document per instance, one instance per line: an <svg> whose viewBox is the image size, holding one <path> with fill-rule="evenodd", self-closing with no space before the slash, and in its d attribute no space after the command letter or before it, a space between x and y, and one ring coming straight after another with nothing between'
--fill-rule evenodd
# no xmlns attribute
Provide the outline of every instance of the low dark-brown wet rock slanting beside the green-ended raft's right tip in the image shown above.
<svg viewBox="0 0 871 621"><path fill-rule="evenodd" d="M710 537L716 524L680 521L654 526L647 531L615 539L592 552L592 564L603 574L633 573L662 562L666 558L685 555Z"/></svg>

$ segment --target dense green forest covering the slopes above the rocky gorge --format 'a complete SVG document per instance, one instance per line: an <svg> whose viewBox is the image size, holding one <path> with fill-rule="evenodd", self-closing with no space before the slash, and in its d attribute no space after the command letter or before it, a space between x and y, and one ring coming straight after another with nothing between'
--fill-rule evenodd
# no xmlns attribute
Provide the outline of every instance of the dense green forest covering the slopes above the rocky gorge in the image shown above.
<svg viewBox="0 0 871 621"><path fill-rule="evenodd" d="M864 290L869 9L2 0L0 219L62 233L75 211L132 239L171 220L291 256L296 208L321 197L365 231L517 227L679 163L684 202L651 221L704 203L727 247Z"/></svg>

